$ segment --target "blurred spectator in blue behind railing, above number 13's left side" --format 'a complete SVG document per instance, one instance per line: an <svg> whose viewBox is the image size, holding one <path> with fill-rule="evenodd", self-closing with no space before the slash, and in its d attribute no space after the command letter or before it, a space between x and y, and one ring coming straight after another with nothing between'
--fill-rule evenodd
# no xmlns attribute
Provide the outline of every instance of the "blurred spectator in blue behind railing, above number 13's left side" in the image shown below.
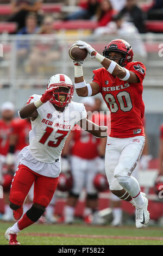
<svg viewBox="0 0 163 256"><path fill-rule="evenodd" d="M29 13L26 17L26 26L23 27L17 34L18 35L30 35L35 34L38 31L37 18L34 13ZM30 51L30 42L23 40L21 37L17 41L17 57L18 60L22 60Z"/></svg>

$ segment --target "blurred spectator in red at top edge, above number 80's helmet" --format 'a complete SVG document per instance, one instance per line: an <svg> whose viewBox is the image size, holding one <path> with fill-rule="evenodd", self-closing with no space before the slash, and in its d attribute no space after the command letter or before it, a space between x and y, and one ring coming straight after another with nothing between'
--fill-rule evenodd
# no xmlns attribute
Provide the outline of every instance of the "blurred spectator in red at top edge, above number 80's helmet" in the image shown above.
<svg viewBox="0 0 163 256"><path fill-rule="evenodd" d="M110 0L103 0L97 10L98 26L106 26L112 20L115 11L112 9Z"/></svg>

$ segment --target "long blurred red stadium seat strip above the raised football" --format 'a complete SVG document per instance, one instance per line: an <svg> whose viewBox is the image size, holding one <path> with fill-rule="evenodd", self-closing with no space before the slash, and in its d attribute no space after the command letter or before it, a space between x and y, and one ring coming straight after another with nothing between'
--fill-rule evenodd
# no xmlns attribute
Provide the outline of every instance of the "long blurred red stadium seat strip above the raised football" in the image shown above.
<svg viewBox="0 0 163 256"><path fill-rule="evenodd" d="M95 29L97 28L96 21L76 20L76 21L57 21L54 22L54 29Z"/></svg>

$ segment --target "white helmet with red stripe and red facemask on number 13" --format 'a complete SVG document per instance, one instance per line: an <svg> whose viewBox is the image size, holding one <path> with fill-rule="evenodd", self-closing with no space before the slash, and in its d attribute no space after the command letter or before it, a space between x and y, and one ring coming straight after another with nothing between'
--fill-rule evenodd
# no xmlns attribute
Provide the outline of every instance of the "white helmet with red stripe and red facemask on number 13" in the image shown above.
<svg viewBox="0 0 163 256"><path fill-rule="evenodd" d="M52 76L47 84L47 89L55 87L50 102L58 107L64 107L73 99L73 84L71 79L64 74Z"/></svg>

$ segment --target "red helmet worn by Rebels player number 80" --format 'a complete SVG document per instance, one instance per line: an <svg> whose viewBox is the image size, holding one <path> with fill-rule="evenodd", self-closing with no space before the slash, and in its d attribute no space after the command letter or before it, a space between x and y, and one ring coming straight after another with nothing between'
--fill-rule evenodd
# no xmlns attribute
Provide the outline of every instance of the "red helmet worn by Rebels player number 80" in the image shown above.
<svg viewBox="0 0 163 256"><path fill-rule="evenodd" d="M122 53L123 56L122 58L109 57L110 52ZM126 66L128 62L133 60L134 53L132 47L127 41L123 39L115 39L109 42L107 46L105 46L103 56L111 60L120 60L119 65Z"/></svg>

